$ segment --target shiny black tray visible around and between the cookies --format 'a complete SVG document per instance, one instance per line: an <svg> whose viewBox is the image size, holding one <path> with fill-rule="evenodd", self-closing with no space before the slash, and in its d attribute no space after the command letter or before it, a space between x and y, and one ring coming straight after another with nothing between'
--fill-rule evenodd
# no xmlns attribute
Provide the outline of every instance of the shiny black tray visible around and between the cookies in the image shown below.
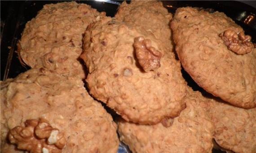
<svg viewBox="0 0 256 153"><path fill-rule="evenodd" d="M18 76L29 67L23 66L18 60L17 42L21 38L22 30L26 22L36 16L37 12L43 8L44 4L58 3L63 1L0 1L1 7L1 31L0 31L0 80ZM118 6L122 1L94 0L77 1L91 5L94 9L105 11L107 16L114 17ZM231 17L238 25L242 26L245 34L252 36L252 42L256 43L256 1L163 1L164 6L172 14L179 7L191 6L206 9L208 11L224 12ZM129 1L128 1L129 3ZM247 5L247 4L250 5ZM194 83L189 75L183 70L183 76L190 86L195 90L201 88ZM119 153L125 153L126 148L121 144ZM213 149L213 153L225 153L218 149Z"/></svg>

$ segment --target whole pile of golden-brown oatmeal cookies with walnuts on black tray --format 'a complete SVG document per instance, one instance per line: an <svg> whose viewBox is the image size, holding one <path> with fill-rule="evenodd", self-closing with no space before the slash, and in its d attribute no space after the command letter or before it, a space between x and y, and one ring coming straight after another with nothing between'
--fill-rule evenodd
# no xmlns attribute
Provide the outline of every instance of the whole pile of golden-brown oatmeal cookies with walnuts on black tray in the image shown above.
<svg viewBox="0 0 256 153"><path fill-rule="evenodd" d="M256 153L256 48L224 13L46 4L18 53L31 70L1 82L3 153L116 153L119 140L133 153Z"/></svg>

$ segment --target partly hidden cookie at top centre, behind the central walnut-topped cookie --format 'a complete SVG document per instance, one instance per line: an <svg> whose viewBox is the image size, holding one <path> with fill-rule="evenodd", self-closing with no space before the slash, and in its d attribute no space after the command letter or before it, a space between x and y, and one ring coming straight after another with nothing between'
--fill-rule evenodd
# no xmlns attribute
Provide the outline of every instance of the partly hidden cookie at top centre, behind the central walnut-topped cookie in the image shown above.
<svg viewBox="0 0 256 153"><path fill-rule="evenodd" d="M163 7L162 2L154 0L132 0L130 4L124 1L115 14L116 20L126 24L136 25L135 28L145 30L161 39L163 45L172 50L171 30L168 27L172 14ZM150 20L149 20L150 19Z"/></svg>

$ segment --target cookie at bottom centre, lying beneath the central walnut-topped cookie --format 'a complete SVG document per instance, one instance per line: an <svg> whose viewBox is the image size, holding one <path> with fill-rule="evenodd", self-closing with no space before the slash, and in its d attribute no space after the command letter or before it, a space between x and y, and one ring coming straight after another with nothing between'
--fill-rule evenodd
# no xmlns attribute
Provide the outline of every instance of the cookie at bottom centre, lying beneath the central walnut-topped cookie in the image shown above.
<svg viewBox="0 0 256 153"><path fill-rule="evenodd" d="M185 102L187 107L170 127L118 122L120 140L133 153L211 153L213 125L206 113L208 102L198 92L188 95Z"/></svg>

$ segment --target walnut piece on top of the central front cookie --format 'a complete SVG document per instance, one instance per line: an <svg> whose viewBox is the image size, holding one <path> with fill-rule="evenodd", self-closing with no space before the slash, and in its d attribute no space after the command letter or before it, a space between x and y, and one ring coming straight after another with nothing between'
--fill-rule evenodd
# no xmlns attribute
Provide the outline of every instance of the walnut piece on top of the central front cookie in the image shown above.
<svg viewBox="0 0 256 153"><path fill-rule="evenodd" d="M139 64L145 72L154 70L160 67L160 59L162 54L160 51L151 47L150 39L144 39L144 37L137 37L134 39L134 47L136 57Z"/></svg>

